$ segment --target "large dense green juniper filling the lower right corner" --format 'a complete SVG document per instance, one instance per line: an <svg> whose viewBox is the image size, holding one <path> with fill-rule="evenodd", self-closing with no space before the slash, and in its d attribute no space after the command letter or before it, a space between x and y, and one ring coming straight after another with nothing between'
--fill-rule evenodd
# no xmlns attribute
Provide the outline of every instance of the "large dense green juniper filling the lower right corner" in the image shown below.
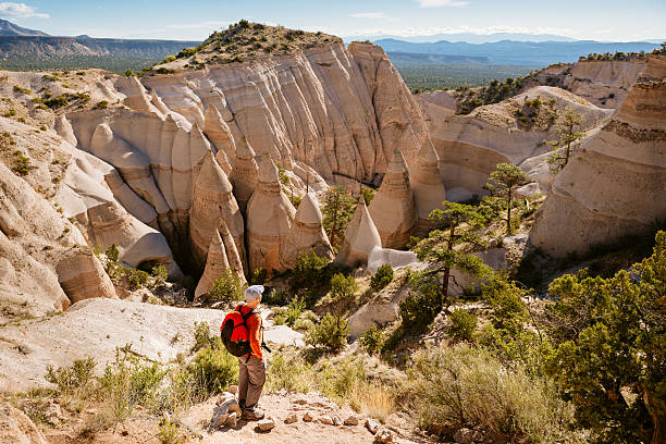
<svg viewBox="0 0 666 444"><path fill-rule="evenodd" d="M579 424L596 442L666 442L666 232L629 271L566 274L548 293L547 369Z"/></svg>

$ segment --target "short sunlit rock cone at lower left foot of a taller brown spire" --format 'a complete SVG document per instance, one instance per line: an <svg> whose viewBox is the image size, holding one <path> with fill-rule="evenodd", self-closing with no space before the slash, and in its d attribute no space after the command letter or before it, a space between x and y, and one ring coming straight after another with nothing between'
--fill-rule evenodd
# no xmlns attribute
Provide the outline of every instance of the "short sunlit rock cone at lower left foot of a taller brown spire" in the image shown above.
<svg viewBox="0 0 666 444"><path fill-rule="evenodd" d="M360 195L354 217L349 221L347 230L345 230L342 246L335 257L335 263L347 267L366 264L370 252L375 248L382 248L382 238L368 212L366 199Z"/></svg>

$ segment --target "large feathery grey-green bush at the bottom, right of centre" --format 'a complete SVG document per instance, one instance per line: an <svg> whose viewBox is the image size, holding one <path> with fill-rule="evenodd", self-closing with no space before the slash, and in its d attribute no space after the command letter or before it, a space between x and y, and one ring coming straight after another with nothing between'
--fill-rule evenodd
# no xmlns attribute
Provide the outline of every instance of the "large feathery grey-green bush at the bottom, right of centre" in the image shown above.
<svg viewBox="0 0 666 444"><path fill-rule="evenodd" d="M419 424L451 435L480 425L514 443L574 442L572 407L553 383L508 371L484 349L467 345L421 349L407 387Z"/></svg>

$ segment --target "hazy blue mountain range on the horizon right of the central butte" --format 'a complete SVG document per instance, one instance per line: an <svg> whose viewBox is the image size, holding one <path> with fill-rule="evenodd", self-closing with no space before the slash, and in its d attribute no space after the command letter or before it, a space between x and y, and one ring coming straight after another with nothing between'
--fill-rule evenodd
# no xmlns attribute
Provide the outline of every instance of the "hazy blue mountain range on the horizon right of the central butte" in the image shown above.
<svg viewBox="0 0 666 444"><path fill-rule="evenodd" d="M398 39L381 39L373 42L381 46L386 52L485 57L491 63L525 65L576 62L580 55L593 52L651 52L659 47L657 44L648 41L601 42L594 40L539 42L502 40L489 44L441 40L415 44Z"/></svg>

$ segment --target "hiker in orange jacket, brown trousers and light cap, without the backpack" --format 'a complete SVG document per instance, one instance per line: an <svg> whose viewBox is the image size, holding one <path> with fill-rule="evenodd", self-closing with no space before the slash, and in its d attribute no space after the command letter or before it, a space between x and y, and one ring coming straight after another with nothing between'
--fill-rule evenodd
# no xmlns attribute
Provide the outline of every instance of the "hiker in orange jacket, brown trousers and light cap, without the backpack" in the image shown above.
<svg viewBox="0 0 666 444"><path fill-rule="evenodd" d="M245 304L239 305L236 310L240 312L249 333L249 345L251 353L238 357L238 404L243 409L242 418L248 421L257 421L263 418L263 412L257 408L263 384L266 383L266 360L261 353L263 345L263 328L261 314L257 307L261 303L263 286L252 285L245 289Z"/></svg>

